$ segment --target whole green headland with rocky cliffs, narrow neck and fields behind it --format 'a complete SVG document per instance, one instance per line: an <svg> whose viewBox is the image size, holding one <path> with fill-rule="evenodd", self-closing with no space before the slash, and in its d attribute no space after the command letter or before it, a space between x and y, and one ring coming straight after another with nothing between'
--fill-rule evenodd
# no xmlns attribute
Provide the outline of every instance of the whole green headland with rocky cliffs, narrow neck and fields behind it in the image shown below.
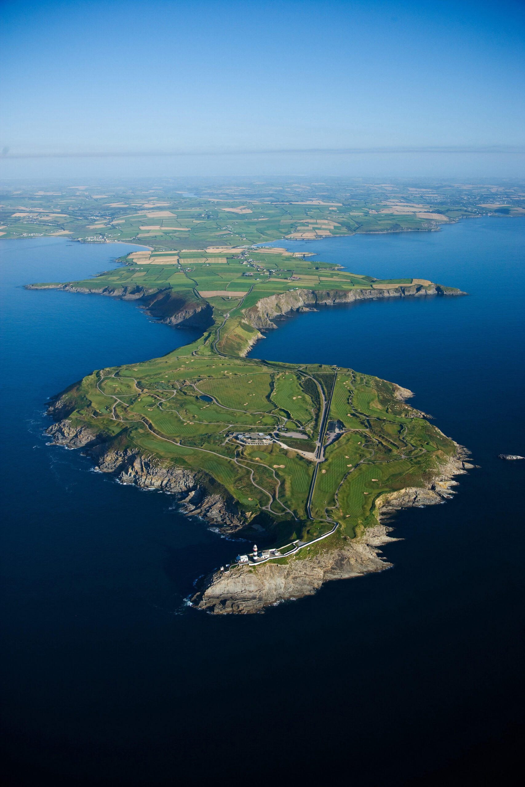
<svg viewBox="0 0 525 787"><path fill-rule="evenodd" d="M53 442L260 545L203 578L192 598L198 608L261 611L331 579L389 567L380 550L391 540L388 515L446 501L453 476L471 467L468 452L394 382L246 353L287 312L464 293L349 273L286 249L167 257L135 252L92 279L28 285L133 300L168 324L203 331L165 357L74 383L50 406Z"/></svg>

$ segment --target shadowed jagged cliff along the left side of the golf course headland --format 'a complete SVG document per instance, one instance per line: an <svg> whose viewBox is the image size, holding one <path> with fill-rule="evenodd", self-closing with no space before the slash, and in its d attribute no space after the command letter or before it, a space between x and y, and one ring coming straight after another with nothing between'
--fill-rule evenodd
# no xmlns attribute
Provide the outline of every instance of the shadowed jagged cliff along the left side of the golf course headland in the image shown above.
<svg viewBox="0 0 525 787"><path fill-rule="evenodd" d="M50 408L51 414L60 412L57 405L53 405L52 410ZM99 471L115 475L120 483L176 495L187 515L207 519L222 533L235 533L246 525L238 515L235 501L204 473L163 464L153 456L145 456L139 449L119 449L111 442L105 442L96 430L76 425L67 418L50 426L47 434L55 445L85 449L97 463ZM210 490L210 485L216 486L217 491Z"/></svg>

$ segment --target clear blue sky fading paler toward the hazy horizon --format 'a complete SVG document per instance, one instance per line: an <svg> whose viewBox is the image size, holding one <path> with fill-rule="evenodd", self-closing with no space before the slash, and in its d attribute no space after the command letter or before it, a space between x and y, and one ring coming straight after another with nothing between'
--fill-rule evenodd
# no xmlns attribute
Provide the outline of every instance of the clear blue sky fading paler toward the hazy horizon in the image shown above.
<svg viewBox="0 0 525 787"><path fill-rule="evenodd" d="M523 2L0 9L4 178L525 174Z"/></svg>

